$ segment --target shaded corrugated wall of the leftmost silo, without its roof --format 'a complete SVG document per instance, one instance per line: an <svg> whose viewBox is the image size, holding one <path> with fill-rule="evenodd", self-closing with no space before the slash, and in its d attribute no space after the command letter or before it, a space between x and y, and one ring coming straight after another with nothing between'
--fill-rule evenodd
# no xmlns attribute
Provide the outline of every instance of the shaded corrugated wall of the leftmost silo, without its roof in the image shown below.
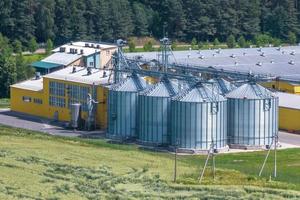
<svg viewBox="0 0 300 200"><path fill-rule="evenodd" d="M136 137L137 92L109 90L108 137L128 139Z"/></svg>

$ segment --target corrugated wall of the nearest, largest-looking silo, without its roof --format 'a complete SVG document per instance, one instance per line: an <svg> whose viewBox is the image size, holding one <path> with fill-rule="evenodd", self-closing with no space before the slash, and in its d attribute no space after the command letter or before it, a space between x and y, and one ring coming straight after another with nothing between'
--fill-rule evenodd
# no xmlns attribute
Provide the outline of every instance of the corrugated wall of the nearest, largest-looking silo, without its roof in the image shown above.
<svg viewBox="0 0 300 200"><path fill-rule="evenodd" d="M212 114L212 103L172 101L171 143L179 148L207 150L212 138L215 148L227 144L227 101L216 103L218 112Z"/></svg>

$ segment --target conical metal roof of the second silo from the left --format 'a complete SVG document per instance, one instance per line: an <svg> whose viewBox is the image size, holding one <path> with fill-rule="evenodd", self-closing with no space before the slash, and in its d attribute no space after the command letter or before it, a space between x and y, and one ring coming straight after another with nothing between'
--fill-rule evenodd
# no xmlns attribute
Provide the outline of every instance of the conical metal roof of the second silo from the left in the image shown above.
<svg viewBox="0 0 300 200"><path fill-rule="evenodd" d="M153 97L172 97L178 93L178 85L167 78L142 92L141 95Z"/></svg>

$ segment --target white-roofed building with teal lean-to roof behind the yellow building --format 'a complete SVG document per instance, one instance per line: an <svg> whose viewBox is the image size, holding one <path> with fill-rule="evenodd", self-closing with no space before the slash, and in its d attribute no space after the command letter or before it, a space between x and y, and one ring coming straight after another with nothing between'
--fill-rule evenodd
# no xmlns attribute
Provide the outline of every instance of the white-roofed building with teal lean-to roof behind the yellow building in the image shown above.
<svg viewBox="0 0 300 200"><path fill-rule="evenodd" d="M68 66L105 68L117 47L95 42L71 42L52 51L41 61L31 64L37 72L48 74Z"/></svg>

